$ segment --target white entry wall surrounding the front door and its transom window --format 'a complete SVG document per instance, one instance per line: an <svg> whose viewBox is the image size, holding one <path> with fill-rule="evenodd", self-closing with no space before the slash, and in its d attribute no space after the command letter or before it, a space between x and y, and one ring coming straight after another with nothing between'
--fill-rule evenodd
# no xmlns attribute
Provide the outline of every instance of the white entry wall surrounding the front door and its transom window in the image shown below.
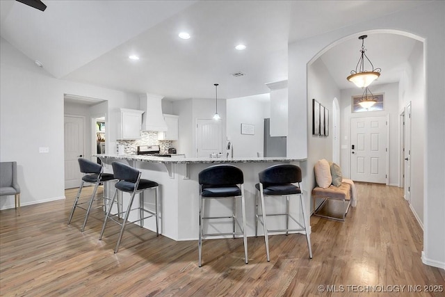
<svg viewBox="0 0 445 297"><path fill-rule="evenodd" d="M343 176L350 178L350 119L381 115L386 116L389 114L389 143L387 143L387 147L389 147L389 184L391 186L398 186L398 83L371 85L369 88L374 95L381 93L384 94L384 111L364 111L361 113L352 113L352 97L362 95L363 90L361 88L341 90L341 97L339 100L341 110L340 145L346 146L346 148L341 149L340 152L341 171L343 172Z"/></svg>

